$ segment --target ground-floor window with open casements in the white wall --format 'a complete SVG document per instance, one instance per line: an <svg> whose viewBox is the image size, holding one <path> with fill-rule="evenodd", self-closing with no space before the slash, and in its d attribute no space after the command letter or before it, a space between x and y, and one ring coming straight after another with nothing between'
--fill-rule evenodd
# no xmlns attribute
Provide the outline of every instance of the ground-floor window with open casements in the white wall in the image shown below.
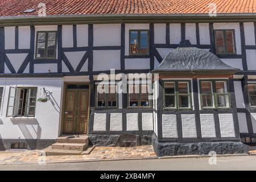
<svg viewBox="0 0 256 182"><path fill-rule="evenodd" d="M10 86L7 117L35 117L37 88Z"/></svg>

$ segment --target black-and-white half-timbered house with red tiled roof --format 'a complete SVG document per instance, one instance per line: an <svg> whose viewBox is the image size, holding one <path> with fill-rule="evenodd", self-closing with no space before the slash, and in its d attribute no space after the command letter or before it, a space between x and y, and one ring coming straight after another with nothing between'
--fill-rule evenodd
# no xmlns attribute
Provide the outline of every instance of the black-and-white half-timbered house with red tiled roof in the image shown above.
<svg viewBox="0 0 256 182"><path fill-rule="evenodd" d="M75 136L79 150L247 152L243 143L256 142L255 13L254 0L0 1L0 149L59 150ZM98 75L112 69L105 90L120 73L151 73L154 99L142 79L127 93L99 93Z"/></svg>

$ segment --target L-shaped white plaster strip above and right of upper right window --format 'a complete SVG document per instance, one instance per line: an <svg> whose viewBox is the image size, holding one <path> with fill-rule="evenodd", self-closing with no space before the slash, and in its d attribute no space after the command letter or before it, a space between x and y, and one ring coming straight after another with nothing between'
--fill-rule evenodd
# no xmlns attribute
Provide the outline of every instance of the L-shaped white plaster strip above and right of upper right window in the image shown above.
<svg viewBox="0 0 256 182"><path fill-rule="evenodd" d="M239 23L213 23L214 30L231 30L234 29L235 31L235 38L236 38L236 48L237 54L241 54L241 38L240 38L240 24Z"/></svg>

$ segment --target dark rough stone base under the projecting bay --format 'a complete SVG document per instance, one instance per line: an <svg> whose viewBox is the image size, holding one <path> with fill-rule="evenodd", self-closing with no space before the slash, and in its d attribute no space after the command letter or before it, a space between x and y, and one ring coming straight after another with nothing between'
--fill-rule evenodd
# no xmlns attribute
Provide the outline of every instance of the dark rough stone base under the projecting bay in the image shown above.
<svg viewBox="0 0 256 182"><path fill-rule="evenodd" d="M217 155L248 153L248 148L241 142L159 142L156 135L152 136L152 146L158 156L208 155L210 151L215 151Z"/></svg>

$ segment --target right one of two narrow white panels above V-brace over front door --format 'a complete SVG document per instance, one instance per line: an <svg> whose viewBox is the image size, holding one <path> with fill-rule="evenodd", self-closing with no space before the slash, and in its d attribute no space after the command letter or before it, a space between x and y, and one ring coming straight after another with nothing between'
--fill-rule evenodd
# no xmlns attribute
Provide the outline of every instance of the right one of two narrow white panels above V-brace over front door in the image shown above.
<svg viewBox="0 0 256 182"><path fill-rule="evenodd" d="M76 37L77 47L88 46L88 24L77 24Z"/></svg>

